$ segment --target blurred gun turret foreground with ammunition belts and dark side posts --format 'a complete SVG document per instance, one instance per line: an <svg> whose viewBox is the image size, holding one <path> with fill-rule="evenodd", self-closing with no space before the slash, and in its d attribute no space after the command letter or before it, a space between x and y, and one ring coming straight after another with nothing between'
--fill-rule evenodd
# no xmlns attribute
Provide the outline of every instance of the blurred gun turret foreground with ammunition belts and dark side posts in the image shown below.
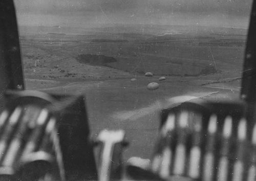
<svg viewBox="0 0 256 181"><path fill-rule="evenodd" d="M89 138L84 96L24 90L14 5L1 1L0 180L256 180L255 15L253 1L241 99L162 110L151 161L124 164L124 131Z"/></svg>

